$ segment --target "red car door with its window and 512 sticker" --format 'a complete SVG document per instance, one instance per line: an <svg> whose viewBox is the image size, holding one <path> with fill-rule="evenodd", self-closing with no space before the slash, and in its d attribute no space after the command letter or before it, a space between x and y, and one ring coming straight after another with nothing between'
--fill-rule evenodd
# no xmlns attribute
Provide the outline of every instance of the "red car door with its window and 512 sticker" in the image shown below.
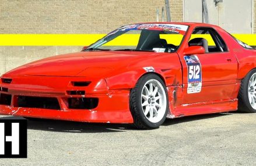
<svg viewBox="0 0 256 166"><path fill-rule="evenodd" d="M228 50L225 42L214 29L197 28L191 40L194 37L205 38L208 41L206 49L209 51L205 54L181 57L184 82L183 104L229 100L237 83L236 57ZM201 44L192 43L192 45ZM202 46L207 47L205 44Z"/></svg>

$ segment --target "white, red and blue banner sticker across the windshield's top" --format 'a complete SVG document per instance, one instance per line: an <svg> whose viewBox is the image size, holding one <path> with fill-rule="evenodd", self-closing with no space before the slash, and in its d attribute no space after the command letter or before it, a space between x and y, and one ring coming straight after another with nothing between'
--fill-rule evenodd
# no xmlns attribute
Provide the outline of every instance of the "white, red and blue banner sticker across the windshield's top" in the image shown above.
<svg viewBox="0 0 256 166"><path fill-rule="evenodd" d="M173 33L179 33L185 35L188 26L179 24L131 24L121 27L120 30L159 30L159 31L171 31Z"/></svg>

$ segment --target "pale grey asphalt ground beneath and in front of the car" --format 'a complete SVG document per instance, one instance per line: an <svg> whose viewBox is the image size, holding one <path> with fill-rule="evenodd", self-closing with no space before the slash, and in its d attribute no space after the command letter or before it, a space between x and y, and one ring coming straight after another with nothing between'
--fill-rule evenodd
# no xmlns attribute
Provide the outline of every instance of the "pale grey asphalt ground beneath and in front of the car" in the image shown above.
<svg viewBox="0 0 256 166"><path fill-rule="evenodd" d="M0 165L256 165L256 114L166 119L155 130L41 119L27 128L27 158Z"/></svg>

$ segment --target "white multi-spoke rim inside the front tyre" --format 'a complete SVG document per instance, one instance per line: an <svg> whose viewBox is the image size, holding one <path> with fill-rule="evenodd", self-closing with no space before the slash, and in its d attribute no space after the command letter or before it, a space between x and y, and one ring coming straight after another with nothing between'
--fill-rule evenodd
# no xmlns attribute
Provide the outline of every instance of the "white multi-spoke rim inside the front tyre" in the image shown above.
<svg viewBox="0 0 256 166"><path fill-rule="evenodd" d="M156 79L148 80L141 93L141 107L150 122L157 123L162 120L166 112L166 102L162 84Z"/></svg>

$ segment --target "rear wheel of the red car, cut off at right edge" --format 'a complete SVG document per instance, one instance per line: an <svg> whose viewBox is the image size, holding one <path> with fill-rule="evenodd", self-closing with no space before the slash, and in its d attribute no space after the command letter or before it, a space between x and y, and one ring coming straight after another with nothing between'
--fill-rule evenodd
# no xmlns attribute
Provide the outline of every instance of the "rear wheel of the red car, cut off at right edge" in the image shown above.
<svg viewBox="0 0 256 166"><path fill-rule="evenodd" d="M251 70L241 81L239 111L256 112L256 69Z"/></svg>

